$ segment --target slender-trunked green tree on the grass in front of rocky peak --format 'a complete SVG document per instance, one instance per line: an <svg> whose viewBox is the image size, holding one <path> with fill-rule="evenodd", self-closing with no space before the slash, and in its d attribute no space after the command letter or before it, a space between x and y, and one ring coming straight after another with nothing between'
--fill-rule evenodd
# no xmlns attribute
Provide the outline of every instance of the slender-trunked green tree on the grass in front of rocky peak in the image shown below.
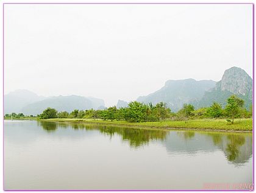
<svg viewBox="0 0 256 193"><path fill-rule="evenodd" d="M244 100L239 97L232 95L227 99L227 105L225 112L227 116L232 119L231 123L233 124L235 118L241 117L241 108L244 106Z"/></svg>

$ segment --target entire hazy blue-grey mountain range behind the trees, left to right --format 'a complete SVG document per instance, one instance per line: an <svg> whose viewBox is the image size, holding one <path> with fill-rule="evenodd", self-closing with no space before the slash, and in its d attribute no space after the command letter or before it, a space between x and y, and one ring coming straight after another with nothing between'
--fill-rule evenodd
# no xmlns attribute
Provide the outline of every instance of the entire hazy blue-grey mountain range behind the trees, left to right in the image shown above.
<svg viewBox="0 0 256 193"><path fill-rule="evenodd" d="M178 111L183 104L193 104L196 108L210 107L218 102L225 107L226 100L232 94L244 100L244 106L249 109L252 105L252 78L241 68L227 69L219 82L213 80L168 80L165 85L147 96L138 97L137 101L153 105L166 102L171 111ZM117 108L127 107L128 102L118 100ZM84 96L38 96L30 91L19 89L4 96L4 113L23 113L37 115L48 107L57 111L71 112L74 109L102 110L104 100Z"/></svg>

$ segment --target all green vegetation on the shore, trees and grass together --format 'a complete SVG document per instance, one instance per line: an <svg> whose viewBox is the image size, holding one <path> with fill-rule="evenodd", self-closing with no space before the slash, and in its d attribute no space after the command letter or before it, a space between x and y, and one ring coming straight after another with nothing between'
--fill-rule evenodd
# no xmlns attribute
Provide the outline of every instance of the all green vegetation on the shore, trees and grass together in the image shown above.
<svg viewBox="0 0 256 193"><path fill-rule="evenodd" d="M10 115L5 115L7 118ZM12 113L12 116L24 114ZM47 108L38 119L52 119L54 121L88 122L98 124L127 125L135 127L154 128L196 128L212 130L252 130L252 108L247 111L244 101L232 95L227 99L226 108L217 102L211 107L194 110L193 105L184 104L177 113L171 112L166 104L143 104L133 101L126 108L109 107L105 110L73 110L57 112L54 108ZM58 118L58 119L57 119ZM249 119L246 119L249 118ZM230 120L231 119L231 120ZM235 121L235 119L238 119Z"/></svg>

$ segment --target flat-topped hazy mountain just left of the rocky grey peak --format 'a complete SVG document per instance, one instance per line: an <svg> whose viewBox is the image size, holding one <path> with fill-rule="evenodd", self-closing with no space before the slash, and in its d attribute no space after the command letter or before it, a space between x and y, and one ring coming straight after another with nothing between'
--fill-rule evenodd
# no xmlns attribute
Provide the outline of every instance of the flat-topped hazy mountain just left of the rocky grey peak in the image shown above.
<svg viewBox="0 0 256 193"><path fill-rule="evenodd" d="M158 102L166 102L167 106L176 112L185 103L199 101L205 91L213 88L215 84L216 82L213 80L168 80L163 88L148 96L138 97L137 101L146 104L152 102L153 105Z"/></svg>

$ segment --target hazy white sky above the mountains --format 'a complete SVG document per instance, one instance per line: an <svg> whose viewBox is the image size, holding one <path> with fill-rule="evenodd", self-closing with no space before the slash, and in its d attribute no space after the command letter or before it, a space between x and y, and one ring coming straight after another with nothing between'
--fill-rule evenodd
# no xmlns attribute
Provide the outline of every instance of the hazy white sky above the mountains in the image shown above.
<svg viewBox="0 0 256 193"><path fill-rule="evenodd" d="M130 101L166 80L252 77L250 4L5 4L5 94Z"/></svg>

